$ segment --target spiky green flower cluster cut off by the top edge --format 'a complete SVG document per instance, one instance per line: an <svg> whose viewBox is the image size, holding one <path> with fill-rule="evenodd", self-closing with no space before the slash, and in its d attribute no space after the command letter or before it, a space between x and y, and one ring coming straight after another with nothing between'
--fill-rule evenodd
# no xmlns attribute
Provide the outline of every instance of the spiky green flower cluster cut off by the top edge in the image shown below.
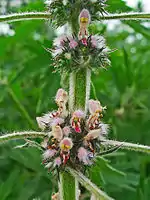
<svg viewBox="0 0 150 200"><path fill-rule="evenodd" d="M92 20L97 20L99 14L107 14L105 11L106 0L46 0L49 12L52 16L52 23L56 26L62 26L67 22L71 22L72 17L77 19L77 16L83 8L90 11ZM74 13L72 15L72 13ZM74 16L75 15L75 16ZM99 19L98 19L99 20Z"/></svg>

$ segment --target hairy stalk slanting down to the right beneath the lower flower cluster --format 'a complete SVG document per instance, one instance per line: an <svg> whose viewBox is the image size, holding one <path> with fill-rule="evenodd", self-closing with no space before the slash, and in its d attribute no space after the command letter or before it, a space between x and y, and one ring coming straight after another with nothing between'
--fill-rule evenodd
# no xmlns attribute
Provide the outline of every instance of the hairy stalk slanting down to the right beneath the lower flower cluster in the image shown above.
<svg viewBox="0 0 150 200"><path fill-rule="evenodd" d="M88 178L86 178L81 172L76 171L71 168L67 168L67 170L74 176L87 190L92 192L97 199L99 200L113 200L106 193L100 190L95 184L93 184Z"/></svg>

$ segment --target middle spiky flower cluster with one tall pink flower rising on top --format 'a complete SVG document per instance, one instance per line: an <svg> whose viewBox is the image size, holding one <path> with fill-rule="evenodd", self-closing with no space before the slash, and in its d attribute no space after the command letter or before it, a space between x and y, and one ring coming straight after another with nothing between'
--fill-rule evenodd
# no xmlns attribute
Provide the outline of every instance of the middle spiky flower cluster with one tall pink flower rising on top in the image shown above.
<svg viewBox="0 0 150 200"><path fill-rule="evenodd" d="M79 15L78 35L63 35L54 40L53 49L47 49L53 55L55 71L78 71L90 68L94 72L110 65L105 39L99 35L89 35L90 13L83 9Z"/></svg>

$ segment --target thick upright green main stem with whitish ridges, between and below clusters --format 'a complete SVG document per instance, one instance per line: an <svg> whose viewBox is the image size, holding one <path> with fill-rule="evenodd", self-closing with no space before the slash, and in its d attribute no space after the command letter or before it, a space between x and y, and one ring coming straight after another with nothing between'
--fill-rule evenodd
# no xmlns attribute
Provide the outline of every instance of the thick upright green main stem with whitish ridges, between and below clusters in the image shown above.
<svg viewBox="0 0 150 200"><path fill-rule="evenodd" d="M69 111L87 110L87 102L90 96L91 71L82 69L70 74L69 87ZM70 172L60 173L59 191L61 200L78 200L78 183Z"/></svg>

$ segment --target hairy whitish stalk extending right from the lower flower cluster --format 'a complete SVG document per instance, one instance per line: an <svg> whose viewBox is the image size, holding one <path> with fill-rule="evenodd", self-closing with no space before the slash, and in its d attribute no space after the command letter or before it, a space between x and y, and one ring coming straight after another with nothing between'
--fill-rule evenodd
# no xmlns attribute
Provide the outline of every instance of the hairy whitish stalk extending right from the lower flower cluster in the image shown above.
<svg viewBox="0 0 150 200"><path fill-rule="evenodd" d="M150 153L150 146L141 145L141 144L133 144L129 142L119 142L115 140L105 140L103 141L105 146L120 146L120 149L127 149L131 151L138 151L143 153Z"/></svg>

